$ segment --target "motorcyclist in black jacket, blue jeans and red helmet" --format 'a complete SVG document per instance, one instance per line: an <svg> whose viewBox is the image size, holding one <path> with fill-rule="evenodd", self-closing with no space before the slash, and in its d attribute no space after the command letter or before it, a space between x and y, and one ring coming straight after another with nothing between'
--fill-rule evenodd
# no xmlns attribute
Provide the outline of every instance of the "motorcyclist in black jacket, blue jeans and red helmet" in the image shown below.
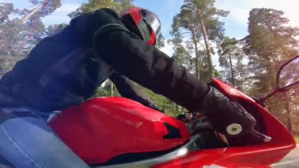
<svg viewBox="0 0 299 168"><path fill-rule="evenodd" d="M120 94L145 100L145 105L150 106L147 98L140 98L128 81L189 111L204 112L223 134L232 123L241 125L242 133L251 130L255 120L238 103L153 46L160 30L158 17L149 10L133 7L117 14L104 8L82 14L44 38L0 81L0 155L16 167L88 168L46 121L90 98L107 78L123 83L118 84L124 87Z"/></svg>

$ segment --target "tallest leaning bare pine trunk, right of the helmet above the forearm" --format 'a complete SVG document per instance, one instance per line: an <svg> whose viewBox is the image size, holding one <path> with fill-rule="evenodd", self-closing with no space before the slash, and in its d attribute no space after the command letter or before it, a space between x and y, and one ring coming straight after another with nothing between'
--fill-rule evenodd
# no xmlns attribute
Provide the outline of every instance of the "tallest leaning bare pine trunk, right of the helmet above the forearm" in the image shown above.
<svg viewBox="0 0 299 168"><path fill-rule="evenodd" d="M207 56L208 56L208 65L209 65L208 78L210 80L210 79L213 78L213 74L214 74L213 73L213 64L212 64L212 57L211 57L210 49L209 49L209 41L208 41L208 35L207 35L206 27L205 27L205 22L204 22L202 14L201 14L201 9L200 8L197 8L197 17L199 18L202 33L204 35L204 40L205 40L205 45L206 45L206 52L207 52Z"/></svg>

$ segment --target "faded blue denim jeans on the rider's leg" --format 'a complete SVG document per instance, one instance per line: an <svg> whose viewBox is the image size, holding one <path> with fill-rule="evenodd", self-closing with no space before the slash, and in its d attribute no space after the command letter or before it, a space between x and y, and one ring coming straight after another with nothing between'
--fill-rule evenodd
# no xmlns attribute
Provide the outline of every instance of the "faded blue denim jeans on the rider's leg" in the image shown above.
<svg viewBox="0 0 299 168"><path fill-rule="evenodd" d="M90 168L54 133L47 117L39 116L0 124L0 155L16 168Z"/></svg>

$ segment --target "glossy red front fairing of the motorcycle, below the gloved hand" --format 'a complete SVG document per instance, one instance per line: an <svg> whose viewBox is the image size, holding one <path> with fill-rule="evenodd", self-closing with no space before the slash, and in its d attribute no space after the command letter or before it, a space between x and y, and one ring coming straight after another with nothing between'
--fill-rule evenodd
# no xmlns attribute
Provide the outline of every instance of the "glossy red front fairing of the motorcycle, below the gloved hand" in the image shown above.
<svg viewBox="0 0 299 168"><path fill-rule="evenodd" d="M255 100L219 79L213 79L210 85L217 87L230 100L239 102L256 118L258 124L254 129L272 140L261 142L250 135L228 138L234 147L192 151L151 168L209 168L213 164L223 168L270 168L296 147L286 127Z"/></svg>

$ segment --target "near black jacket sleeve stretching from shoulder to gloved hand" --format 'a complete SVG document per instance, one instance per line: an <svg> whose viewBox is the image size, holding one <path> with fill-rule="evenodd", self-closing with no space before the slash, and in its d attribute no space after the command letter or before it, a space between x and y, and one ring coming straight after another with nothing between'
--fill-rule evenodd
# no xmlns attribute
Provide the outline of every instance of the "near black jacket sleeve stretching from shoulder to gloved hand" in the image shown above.
<svg viewBox="0 0 299 168"><path fill-rule="evenodd" d="M118 14L100 9L89 16L89 22L106 24L92 32L92 45L99 56L130 80L164 95L189 111L200 110L209 86L197 80L154 46L148 45L124 27ZM102 23L101 22L101 23ZM78 22L77 25L80 25Z"/></svg>

